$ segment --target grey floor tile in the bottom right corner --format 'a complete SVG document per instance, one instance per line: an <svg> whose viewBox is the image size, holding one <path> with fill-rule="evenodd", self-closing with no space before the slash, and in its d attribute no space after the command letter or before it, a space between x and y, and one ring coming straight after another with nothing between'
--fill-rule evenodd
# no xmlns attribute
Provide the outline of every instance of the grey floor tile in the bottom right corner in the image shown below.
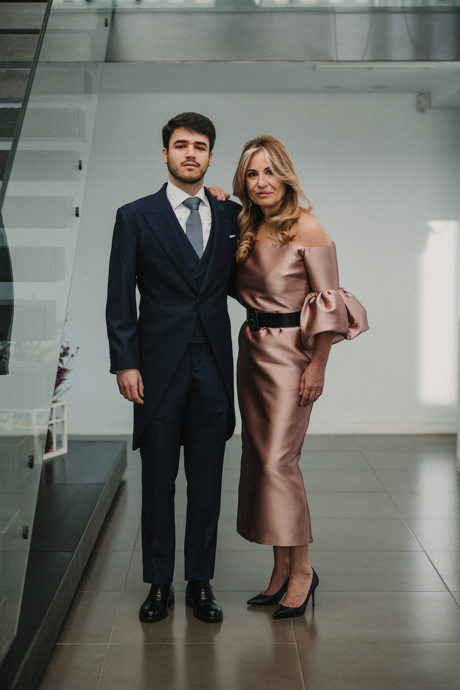
<svg viewBox="0 0 460 690"><path fill-rule="evenodd" d="M460 644L299 644L308 690L454 690Z"/></svg>

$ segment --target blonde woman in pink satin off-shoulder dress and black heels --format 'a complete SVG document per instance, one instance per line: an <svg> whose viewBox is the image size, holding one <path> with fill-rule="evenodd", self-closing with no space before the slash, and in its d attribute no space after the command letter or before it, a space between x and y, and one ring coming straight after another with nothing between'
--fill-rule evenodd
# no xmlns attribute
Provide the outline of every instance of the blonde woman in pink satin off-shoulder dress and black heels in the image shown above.
<svg viewBox="0 0 460 690"><path fill-rule="evenodd" d="M299 469L310 412L323 393L332 344L366 331L368 322L363 306L339 288L335 245L310 213L281 141L248 141L233 192L243 204L237 290L247 308L237 364L237 530L274 551L270 583L248 604L279 604L286 594L273 618L292 618L303 615L310 595L314 604L319 583L308 561L312 532Z"/></svg>

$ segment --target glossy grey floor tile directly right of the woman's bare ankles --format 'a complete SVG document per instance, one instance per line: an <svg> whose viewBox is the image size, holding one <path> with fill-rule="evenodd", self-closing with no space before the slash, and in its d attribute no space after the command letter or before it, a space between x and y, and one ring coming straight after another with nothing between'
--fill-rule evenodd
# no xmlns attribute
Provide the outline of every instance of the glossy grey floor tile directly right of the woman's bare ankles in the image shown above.
<svg viewBox="0 0 460 690"><path fill-rule="evenodd" d="M310 551L319 591L446 591L423 551Z"/></svg>

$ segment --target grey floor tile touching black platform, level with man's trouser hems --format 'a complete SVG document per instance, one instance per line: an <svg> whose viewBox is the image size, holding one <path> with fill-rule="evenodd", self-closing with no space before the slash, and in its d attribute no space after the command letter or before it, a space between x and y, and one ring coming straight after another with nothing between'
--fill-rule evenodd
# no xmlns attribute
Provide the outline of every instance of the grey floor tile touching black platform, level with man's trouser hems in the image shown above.
<svg viewBox="0 0 460 690"><path fill-rule="evenodd" d="M132 551L93 551L77 591L121 591L131 557Z"/></svg>

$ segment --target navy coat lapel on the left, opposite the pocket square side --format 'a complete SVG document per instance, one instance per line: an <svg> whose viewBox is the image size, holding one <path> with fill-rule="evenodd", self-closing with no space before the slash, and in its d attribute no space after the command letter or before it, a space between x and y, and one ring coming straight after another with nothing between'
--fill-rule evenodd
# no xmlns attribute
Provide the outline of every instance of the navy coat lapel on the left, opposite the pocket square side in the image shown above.
<svg viewBox="0 0 460 690"><path fill-rule="evenodd" d="M183 230L166 196L166 184L152 196L152 208L144 211L143 217L174 266L196 290L197 282L179 235Z"/></svg>

